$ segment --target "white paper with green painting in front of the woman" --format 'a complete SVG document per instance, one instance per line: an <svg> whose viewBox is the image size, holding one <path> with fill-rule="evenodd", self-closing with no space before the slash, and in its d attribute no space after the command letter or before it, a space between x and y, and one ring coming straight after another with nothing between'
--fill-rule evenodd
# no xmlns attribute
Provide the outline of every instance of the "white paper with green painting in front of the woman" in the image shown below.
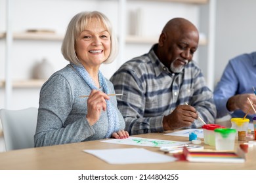
<svg viewBox="0 0 256 183"><path fill-rule="evenodd" d="M135 146L150 146L150 147L162 147L162 146L180 146L189 144L190 142L179 142L179 141L166 141L160 139L147 139L139 137L129 137L128 139L108 139L101 142L108 142L114 144L128 144Z"/></svg>

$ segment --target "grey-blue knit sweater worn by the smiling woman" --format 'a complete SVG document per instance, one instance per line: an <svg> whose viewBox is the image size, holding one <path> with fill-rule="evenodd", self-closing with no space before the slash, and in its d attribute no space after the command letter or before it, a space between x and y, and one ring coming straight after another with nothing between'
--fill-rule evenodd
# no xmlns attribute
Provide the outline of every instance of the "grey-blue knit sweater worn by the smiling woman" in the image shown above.
<svg viewBox="0 0 256 183"><path fill-rule="evenodd" d="M114 93L113 84L107 82L110 92ZM106 111L102 110L100 119L93 126L85 118L87 98L79 96L90 93L91 88L71 65L54 73L41 88L35 147L104 139L108 131ZM124 129L125 122L117 109L116 96L110 96L110 101L117 110L119 130Z"/></svg>

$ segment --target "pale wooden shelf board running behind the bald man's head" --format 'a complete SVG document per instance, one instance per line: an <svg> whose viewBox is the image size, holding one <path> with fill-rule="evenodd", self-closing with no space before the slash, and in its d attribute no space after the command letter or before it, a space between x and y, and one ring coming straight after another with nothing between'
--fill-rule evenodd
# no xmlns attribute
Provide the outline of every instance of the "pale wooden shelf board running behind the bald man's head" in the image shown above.
<svg viewBox="0 0 256 183"><path fill-rule="evenodd" d="M154 44L158 42L158 37L140 37L136 35L129 35L126 37L125 41L127 43L136 43L136 44ZM199 45L206 45L207 40L205 37L200 38Z"/></svg>

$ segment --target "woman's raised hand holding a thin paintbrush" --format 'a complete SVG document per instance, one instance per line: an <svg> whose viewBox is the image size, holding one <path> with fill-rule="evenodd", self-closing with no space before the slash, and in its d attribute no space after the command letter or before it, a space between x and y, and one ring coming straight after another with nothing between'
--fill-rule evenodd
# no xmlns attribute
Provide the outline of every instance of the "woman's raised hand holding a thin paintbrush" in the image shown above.
<svg viewBox="0 0 256 183"><path fill-rule="evenodd" d="M110 97L104 92L92 90L87 99L87 115L86 118L90 125L94 125L100 118L102 110L106 111L106 100Z"/></svg>

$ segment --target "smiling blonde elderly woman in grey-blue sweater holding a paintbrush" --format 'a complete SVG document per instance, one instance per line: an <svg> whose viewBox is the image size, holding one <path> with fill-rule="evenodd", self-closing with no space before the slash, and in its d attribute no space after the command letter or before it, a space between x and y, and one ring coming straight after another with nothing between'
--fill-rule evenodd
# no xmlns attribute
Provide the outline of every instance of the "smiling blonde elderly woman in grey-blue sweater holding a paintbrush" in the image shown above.
<svg viewBox="0 0 256 183"><path fill-rule="evenodd" d="M70 61L43 84L39 98L35 147L129 137L117 109L113 84L99 71L114 61L117 39L101 12L81 12L72 18L62 42ZM81 97L88 95L88 97Z"/></svg>

